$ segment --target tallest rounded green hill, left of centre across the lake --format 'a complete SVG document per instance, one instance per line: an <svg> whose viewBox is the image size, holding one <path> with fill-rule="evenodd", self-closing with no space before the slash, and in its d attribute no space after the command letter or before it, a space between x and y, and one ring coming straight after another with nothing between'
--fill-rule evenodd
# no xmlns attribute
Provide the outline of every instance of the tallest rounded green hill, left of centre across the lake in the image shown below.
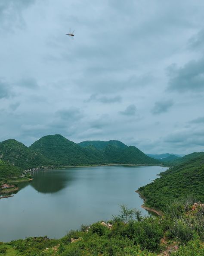
<svg viewBox="0 0 204 256"><path fill-rule="evenodd" d="M47 135L34 142L30 149L57 161L61 166L91 165L103 162L101 154L91 147L83 148L60 134Z"/></svg>

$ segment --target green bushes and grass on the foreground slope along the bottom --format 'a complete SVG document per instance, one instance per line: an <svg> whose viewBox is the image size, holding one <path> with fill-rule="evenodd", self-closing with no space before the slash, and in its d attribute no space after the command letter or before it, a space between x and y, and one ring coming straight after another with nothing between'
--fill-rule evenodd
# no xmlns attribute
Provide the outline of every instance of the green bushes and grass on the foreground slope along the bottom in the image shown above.
<svg viewBox="0 0 204 256"><path fill-rule="evenodd" d="M110 224L97 222L71 230L61 239L28 237L0 243L0 253L19 256L203 256L204 208L173 202L162 218L142 217L121 205Z"/></svg>

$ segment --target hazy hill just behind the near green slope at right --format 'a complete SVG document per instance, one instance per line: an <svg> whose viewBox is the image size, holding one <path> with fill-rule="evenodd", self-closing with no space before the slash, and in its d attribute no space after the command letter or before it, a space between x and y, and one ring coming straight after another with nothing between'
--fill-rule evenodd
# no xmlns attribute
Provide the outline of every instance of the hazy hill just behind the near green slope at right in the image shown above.
<svg viewBox="0 0 204 256"><path fill-rule="evenodd" d="M186 161L193 160L200 156L204 156L204 152L194 152L192 154L185 155L184 157L167 157L162 159L161 161L167 166L176 166L181 163L185 163Z"/></svg>

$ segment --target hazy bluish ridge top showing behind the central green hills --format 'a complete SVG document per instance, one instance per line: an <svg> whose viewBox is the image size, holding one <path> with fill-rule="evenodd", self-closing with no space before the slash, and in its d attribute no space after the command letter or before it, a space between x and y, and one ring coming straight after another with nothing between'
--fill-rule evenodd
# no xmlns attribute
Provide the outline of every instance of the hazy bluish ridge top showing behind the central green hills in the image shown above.
<svg viewBox="0 0 204 256"><path fill-rule="evenodd" d="M87 146L93 146L96 147L97 149L104 149L108 145L112 145L115 147L120 147L120 148L125 148L127 145L122 143L121 141L82 141L78 143L81 147L87 147Z"/></svg>

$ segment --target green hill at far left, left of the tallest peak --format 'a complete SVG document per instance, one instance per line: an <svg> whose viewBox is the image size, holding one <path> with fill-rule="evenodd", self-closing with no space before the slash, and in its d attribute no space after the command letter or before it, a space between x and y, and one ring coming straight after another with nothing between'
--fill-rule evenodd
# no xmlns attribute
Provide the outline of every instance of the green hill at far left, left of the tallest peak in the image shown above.
<svg viewBox="0 0 204 256"><path fill-rule="evenodd" d="M11 139L0 142L0 159L24 169L55 164L54 161L31 150L21 142Z"/></svg>

